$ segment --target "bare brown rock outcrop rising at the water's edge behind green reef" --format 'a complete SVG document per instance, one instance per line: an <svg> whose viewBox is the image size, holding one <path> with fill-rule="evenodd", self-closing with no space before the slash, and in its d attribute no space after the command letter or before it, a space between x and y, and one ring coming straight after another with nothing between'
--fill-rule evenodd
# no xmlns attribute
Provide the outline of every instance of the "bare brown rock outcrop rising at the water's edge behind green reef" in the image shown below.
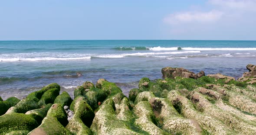
<svg viewBox="0 0 256 135"><path fill-rule="evenodd" d="M162 68L162 74L163 78L171 78L174 79L174 77L185 77L185 78L193 78L197 79L202 76L205 76L203 71L200 71L198 74L195 74L194 72L188 71L187 69L180 68L180 67L164 67Z"/></svg>

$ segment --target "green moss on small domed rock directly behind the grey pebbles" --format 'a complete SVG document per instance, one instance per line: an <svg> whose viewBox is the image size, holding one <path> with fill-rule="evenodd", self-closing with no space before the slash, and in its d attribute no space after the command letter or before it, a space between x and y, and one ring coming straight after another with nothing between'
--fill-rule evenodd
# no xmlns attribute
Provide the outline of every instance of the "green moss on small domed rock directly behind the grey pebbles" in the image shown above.
<svg viewBox="0 0 256 135"><path fill-rule="evenodd" d="M69 96L69 93L63 91L62 94L56 97L54 103L60 103L62 106L70 106L70 104L72 103L72 99Z"/></svg>

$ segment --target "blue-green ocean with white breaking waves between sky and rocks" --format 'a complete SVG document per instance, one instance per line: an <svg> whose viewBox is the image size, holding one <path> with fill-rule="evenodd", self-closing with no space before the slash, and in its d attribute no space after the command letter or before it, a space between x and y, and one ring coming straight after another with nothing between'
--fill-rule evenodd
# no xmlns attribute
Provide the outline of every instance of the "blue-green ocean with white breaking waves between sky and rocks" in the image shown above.
<svg viewBox="0 0 256 135"><path fill-rule="evenodd" d="M247 64L256 64L256 41L0 41L0 96L22 99L56 82L73 97L75 87L100 78L128 96L142 77L162 78L163 67L239 78Z"/></svg>

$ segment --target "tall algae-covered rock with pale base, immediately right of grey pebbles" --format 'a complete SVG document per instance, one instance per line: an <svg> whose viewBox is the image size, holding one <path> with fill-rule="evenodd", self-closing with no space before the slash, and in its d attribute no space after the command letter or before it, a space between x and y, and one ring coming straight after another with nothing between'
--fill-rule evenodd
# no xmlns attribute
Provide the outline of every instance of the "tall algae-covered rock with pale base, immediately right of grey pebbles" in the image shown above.
<svg viewBox="0 0 256 135"><path fill-rule="evenodd" d="M75 103L75 114L66 129L76 135L92 135L89 127L92 125L94 116L92 108L84 100L79 100Z"/></svg>

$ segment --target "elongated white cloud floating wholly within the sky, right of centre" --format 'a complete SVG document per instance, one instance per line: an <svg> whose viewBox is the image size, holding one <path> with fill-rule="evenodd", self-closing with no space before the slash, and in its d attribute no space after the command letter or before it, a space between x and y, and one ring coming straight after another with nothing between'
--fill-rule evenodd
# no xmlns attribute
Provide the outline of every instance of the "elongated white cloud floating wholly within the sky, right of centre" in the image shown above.
<svg viewBox="0 0 256 135"><path fill-rule="evenodd" d="M223 13L217 10L210 12L182 12L170 14L164 18L164 22L171 25L192 22L209 23L217 21L222 15Z"/></svg>

